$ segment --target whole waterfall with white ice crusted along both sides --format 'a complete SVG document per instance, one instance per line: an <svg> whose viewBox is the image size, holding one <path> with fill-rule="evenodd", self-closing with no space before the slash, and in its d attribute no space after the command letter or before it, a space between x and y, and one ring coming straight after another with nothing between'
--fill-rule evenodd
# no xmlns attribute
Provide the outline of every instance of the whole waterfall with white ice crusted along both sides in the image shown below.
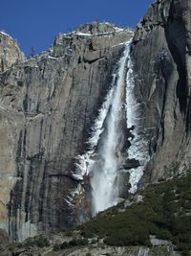
<svg viewBox="0 0 191 256"><path fill-rule="evenodd" d="M130 192L134 193L148 159L146 141L140 135L138 127L139 105L134 97L133 62L130 58L130 50L131 41L128 41L117 63L117 72L113 74L111 89L99 109L92 128L92 135L88 141L90 149L77 157L74 176L81 180L84 175L90 176L93 215L117 204L119 199L117 179L124 161L127 158L136 159L140 164L138 168L122 170L129 173ZM125 143L121 121L125 112L126 127L132 130L133 135L128 139L131 146L126 149L126 159L121 153Z"/></svg>

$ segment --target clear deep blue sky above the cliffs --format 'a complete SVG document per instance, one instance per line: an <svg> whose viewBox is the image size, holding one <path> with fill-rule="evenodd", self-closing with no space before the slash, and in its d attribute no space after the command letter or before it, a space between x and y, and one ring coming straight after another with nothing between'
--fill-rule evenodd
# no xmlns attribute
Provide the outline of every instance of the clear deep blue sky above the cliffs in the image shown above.
<svg viewBox="0 0 191 256"><path fill-rule="evenodd" d="M29 55L48 49L55 35L83 23L108 21L135 27L152 0L3 0L0 30L19 42Z"/></svg>

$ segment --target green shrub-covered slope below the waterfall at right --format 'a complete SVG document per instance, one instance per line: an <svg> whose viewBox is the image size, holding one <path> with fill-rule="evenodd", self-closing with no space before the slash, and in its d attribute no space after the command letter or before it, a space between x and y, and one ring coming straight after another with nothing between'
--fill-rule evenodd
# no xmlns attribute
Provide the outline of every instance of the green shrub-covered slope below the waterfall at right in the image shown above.
<svg viewBox="0 0 191 256"><path fill-rule="evenodd" d="M147 245L150 235L172 241L184 253L191 250L191 175L149 185L141 192L144 201L118 212L108 209L81 226L85 238L99 237L109 245ZM122 205L121 205L122 206Z"/></svg>

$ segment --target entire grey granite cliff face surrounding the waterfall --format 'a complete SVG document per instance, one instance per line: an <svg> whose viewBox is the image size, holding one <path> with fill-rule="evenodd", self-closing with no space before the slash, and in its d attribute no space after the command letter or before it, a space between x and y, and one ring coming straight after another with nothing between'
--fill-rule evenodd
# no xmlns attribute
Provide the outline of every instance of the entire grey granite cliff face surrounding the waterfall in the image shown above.
<svg viewBox="0 0 191 256"><path fill-rule="evenodd" d="M149 152L139 185L191 168L190 11L188 0L155 1L133 38L127 73L132 69L138 129L124 128L124 140L138 130ZM84 217L91 214L89 177L74 176L76 157L89 150L92 126L133 32L87 24L27 60L9 35L1 37L0 227L22 241L71 226L82 210ZM139 172L137 158L124 154L124 169ZM127 183L128 175L121 177L121 186Z"/></svg>

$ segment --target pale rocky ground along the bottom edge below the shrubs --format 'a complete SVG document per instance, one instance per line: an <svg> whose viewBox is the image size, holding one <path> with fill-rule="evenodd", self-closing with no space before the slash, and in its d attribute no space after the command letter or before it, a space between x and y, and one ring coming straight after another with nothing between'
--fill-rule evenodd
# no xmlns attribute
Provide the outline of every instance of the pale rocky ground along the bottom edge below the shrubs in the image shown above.
<svg viewBox="0 0 191 256"><path fill-rule="evenodd" d="M181 256L180 251L168 241L157 240L152 238L153 247L147 246L110 246L104 244L103 240L93 239L77 239L78 233L75 231L75 239L70 234L62 232L54 233L50 236L35 237L28 239L24 243L10 244L4 247L0 246L0 255L2 256ZM76 244L78 241L78 244ZM83 242L83 243L82 243ZM64 246L71 243L69 247ZM81 244L80 244L81 243ZM60 244L61 247L60 247Z"/></svg>

